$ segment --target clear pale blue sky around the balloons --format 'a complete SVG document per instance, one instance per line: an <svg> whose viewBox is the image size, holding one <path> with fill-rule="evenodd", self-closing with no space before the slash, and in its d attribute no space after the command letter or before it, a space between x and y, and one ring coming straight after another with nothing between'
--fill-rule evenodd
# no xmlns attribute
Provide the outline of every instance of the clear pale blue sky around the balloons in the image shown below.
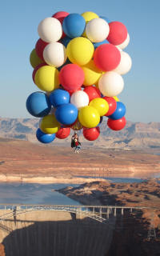
<svg viewBox="0 0 160 256"><path fill-rule="evenodd" d="M31 118L26 98L37 86L32 81L30 52L38 40L38 23L58 10L79 13L90 10L123 22L130 34L133 66L123 76L125 89L119 98L126 104L126 118L133 122L160 122L160 1L46 0L1 3L0 116Z"/></svg>

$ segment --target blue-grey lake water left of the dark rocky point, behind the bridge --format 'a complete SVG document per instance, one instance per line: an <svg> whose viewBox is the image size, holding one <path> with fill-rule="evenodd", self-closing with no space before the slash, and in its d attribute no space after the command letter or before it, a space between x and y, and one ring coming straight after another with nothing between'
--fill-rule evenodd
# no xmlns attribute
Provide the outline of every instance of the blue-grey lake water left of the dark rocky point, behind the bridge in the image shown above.
<svg viewBox="0 0 160 256"><path fill-rule="evenodd" d="M73 184L0 183L0 203L79 205L56 191ZM77 185L76 185L77 186Z"/></svg>

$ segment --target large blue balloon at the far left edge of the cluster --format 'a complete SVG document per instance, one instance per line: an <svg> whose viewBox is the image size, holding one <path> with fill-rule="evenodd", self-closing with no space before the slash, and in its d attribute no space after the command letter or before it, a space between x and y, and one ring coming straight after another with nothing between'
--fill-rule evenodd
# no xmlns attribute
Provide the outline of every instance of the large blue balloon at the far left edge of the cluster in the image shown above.
<svg viewBox="0 0 160 256"><path fill-rule="evenodd" d="M50 99L40 91L30 94L26 100L26 109L36 118L42 118L50 113Z"/></svg>

